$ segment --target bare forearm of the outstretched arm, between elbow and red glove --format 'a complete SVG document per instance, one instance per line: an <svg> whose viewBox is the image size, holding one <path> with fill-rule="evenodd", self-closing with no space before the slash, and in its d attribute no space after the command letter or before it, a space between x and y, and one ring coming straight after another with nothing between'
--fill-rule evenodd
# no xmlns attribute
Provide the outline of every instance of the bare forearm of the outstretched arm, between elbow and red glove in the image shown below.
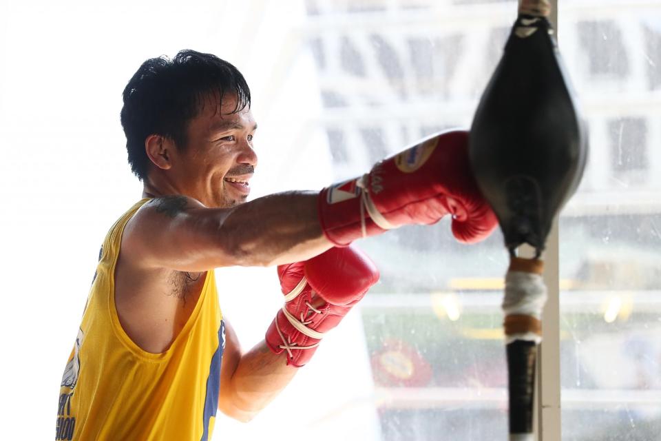
<svg viewBox="0 0 661 441"><path fill-rule="evenodd" d="M234 264L278 265L330 248L319 224L318 197L317 192L278 193L223 212L220 229Z"/></svg>

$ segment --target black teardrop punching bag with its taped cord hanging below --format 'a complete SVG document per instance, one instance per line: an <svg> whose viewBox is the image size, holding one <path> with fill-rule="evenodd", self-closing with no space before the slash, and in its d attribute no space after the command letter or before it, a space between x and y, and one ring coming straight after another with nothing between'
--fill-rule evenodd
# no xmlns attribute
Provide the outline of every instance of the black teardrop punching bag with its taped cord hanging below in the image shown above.
<svg viewBox="0 0 661 441"><path fill-rule="evenodd" d="M585 124L549 17L549 0L519 1L469 140L476 180L510 252L503 310L513 441L534 440L537 353L547 299L541 256L554 218L576 191L587 163ZM532 258L516 256L522 244L534 249Z"/></svg>

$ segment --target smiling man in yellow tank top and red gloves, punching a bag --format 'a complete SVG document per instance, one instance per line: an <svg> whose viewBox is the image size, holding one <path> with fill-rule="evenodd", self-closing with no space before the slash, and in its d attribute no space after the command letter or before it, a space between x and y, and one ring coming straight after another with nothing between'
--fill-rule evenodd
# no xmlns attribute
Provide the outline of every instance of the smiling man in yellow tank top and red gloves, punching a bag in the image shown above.
<svg viewBox="0 0 661 441"><path fill-rule="evenodd" d="M56 439L207 440L216 409L250 420L376 283L353 240L445 214L466 242L496 225L465 132L434 136L320 193L245 203L257 124L236 68L191 50L149 59L123 97L143 199L104 240L61 383ZM246 353L213 278L231 265L280 265L286 294Z"/></svg>

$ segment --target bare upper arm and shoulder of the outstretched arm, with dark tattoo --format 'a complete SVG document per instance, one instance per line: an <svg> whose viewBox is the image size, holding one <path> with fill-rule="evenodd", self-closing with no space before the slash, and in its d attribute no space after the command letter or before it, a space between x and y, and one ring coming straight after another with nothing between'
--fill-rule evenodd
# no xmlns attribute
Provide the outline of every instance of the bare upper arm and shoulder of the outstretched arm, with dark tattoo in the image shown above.
<svg viewBox="0 0 661 441"><path fill-rule="evenodd" d="M231 244L224 240L222 220L231 209L204 207L180 195L154 198L127 223L123 258L145 268L207 271L233 264Z"/></svg>

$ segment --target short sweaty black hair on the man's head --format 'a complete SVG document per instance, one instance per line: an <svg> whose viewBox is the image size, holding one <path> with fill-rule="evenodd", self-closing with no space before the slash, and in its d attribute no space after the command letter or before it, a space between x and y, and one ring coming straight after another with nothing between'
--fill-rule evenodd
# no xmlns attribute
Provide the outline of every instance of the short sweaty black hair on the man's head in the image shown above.
<svg viewBox="0 0 661 441"><path fill-rule="evenodd" d="M212 54L182 50L174 59L161 56L140 66L124 89L120 114L129 164L140 181L147 178L147 136L165 136L184 149L191 119L209 97L220 109L227 93L237 98L233 112L250 107L250 89L241 72Z"/></svg>

